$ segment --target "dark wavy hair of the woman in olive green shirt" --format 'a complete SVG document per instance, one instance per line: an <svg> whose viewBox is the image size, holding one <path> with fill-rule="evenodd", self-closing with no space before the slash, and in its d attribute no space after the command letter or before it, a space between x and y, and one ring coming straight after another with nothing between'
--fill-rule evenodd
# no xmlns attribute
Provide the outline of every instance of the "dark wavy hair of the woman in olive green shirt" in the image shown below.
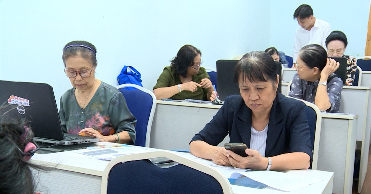
<svg viewBox="0 0 371 194"><path fill-rule="evenodd" d="M194 65L193 60L197 55L202 56L200 50L192 45L184 45L179 49L177 56L171 60L170 67L175 73L186 77L187 68Z"/></svg>

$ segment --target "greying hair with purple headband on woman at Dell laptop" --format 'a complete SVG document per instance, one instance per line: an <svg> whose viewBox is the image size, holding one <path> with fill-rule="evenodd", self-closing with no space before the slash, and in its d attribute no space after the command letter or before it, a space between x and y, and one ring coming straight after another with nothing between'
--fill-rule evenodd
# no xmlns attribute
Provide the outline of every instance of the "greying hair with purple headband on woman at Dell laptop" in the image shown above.
<svg viewBox="0 0 371 194"><path fill-rule="evenodd" d="M68 47L70 45L83 45L83 46ZM91 48L92 50L87 47ZM65 64L65 67L66 67L66 60L72 56L81 56L85 60L89 60L93 64L93 66L96 66L96 48L90 42L75 40L75 41L67 43L67 45L63 47L63 55L62 55L62 59L63 59L63 63Z"/></svg>

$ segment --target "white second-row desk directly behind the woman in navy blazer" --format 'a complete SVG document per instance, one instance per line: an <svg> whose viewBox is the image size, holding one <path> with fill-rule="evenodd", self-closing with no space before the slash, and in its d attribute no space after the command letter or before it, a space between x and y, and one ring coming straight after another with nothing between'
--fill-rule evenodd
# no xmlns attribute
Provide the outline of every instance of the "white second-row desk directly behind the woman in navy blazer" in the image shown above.
<svg viewBox="0 0 371 194"><path fill-rule="evenodd" d="M150 147L189 150L189 142L211 121L220 105L157 101L151 128ZM334 193L352 188L355 155L356 115L325 115L322 119L318 170L335 172ZM176 129L176 130L174 130ZM229 142L229 136L219 144ZM349 151L352 150L352 151ZM348 160L353 158L352 160Z"/></svg>

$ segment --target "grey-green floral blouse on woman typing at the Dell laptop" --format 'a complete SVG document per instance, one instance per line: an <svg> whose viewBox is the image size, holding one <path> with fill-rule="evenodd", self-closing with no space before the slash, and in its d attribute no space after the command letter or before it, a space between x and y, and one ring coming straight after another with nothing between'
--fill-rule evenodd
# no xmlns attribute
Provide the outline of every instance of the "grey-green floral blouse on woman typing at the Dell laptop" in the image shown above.
<svg viewBox="0 0 371 194"><path fill-rule="evenodd" d="M122 93L104 82L85 109L76 100L75 88L66 91L60 98L59 117L65 133L77 134L89 127L102 135L127 131L132 142L135 141L137 119L129 111Z"/></svg>

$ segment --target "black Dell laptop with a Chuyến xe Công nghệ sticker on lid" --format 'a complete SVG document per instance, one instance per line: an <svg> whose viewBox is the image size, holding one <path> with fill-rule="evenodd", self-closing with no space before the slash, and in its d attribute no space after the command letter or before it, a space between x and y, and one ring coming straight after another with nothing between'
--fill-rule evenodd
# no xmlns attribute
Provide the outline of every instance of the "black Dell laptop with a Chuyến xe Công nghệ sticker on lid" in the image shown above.
<svg viewBox="0 0 371 194"><path fill-rule="evenodd" d="M52 144L61 142L58 145L99 141L99 138L63 133L52 86L46 83L0 80L0 91L0 105L6 106L1 111L1 121L25 118L30 121L35 141ZM7 113L3 114L5 111Z"/></svg>

